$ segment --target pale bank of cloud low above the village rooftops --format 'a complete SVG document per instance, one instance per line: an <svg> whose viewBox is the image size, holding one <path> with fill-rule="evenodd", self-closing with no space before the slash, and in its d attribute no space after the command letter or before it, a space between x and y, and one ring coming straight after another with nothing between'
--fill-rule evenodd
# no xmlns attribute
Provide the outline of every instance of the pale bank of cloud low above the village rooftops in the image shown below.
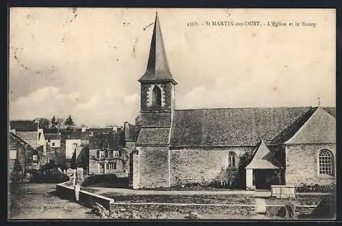
<svg viewBox="0 0 342 226"><path fill-rule="evenodd" d="M85 98L76 91L63 93L60 88L48 86L11 101L10 119L65 118L70 114L78 124L122 125L124 121L132 123L137 108L136 94L118 96L114 90L106 89Z"/></svg>

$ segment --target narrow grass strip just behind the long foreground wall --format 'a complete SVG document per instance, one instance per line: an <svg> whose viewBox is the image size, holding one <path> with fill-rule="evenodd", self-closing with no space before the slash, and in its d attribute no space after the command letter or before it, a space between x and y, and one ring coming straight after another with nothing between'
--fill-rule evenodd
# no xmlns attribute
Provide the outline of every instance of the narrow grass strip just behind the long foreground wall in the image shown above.
<svg viewBox="0 0 342 226"><path fill-rule="evenodd" d="M210 203L210 204L254 204L254 197L242 194L198 194L198 195L170 195L170 194L117 194L104 193L105 197L114 199L118 203Z"/></svg>

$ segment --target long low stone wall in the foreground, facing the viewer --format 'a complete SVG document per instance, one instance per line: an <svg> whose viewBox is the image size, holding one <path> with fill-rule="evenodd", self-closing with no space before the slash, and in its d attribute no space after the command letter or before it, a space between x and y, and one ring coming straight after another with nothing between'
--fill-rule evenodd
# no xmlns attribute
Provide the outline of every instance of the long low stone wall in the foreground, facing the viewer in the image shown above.
<svg viewBox="0 0 342 226"><path fill-rule="evenodd" d="M255 205L228 204L188 204L188 203L111 203L110 210L129 208L133 212L179 212L187 214L196 211L198 214L255 214Z"/></svg>

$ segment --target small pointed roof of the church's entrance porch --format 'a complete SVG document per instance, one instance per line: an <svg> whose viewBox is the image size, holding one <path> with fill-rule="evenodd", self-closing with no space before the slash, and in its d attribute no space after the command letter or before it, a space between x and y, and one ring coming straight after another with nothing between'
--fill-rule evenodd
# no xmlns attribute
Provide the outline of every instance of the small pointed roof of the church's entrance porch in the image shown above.
<svg viewBox="0 0 342 226"><path fill-rule="evenodd" d="M274 158L274 153L269 151L265 142L261 140L254 151L252 161L246 168L281 168L279 162Z"/></svg>

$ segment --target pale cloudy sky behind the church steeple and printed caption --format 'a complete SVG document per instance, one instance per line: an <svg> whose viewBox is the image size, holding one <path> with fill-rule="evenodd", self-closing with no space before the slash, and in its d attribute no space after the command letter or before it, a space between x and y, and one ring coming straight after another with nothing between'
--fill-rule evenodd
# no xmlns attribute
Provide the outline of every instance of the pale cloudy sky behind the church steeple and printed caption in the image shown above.
<svg viewBox="0 0 342 226"><path fill-rule="evenodd" d="M158 12L177 109L335 105L334 10ZM154 19L154 8L12 8L10 119L133 123ZM201 25L256 20L316 27Z"/></svg>

